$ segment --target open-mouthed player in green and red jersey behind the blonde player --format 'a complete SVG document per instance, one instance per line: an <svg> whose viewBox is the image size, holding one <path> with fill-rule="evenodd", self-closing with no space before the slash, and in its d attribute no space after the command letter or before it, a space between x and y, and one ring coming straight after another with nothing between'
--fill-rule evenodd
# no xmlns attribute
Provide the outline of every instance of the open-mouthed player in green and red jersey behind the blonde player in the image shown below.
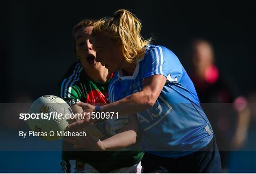
<svg viewBox="0 0 256 174"><path fill-rule="evenodd" d="M78 101L92 105L109 103L108 86L111 73L95 61L96 52L89 38L95 21L82 20L73 28L73 46L78 62L66 72L61 81L61 97L71 106L73 113L81 113ZM90 130L98 138L114 135L129 126L127 119L110 119L90 125ZM102 137L101 139L104 139ZM141 151L95 152L81 148L73 151L73 146L64 141L62 166L65 173L139 173Z"/></svg>

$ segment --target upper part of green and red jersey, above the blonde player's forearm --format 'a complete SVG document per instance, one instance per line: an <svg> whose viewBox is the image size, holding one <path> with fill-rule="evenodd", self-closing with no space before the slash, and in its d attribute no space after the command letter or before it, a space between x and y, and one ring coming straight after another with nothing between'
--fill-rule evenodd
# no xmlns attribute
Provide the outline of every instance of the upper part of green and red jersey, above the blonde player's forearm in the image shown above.
<svg viewBox="0 0 256 174"><path fill-rule="evenodd" d="M82 70L79 62L74 63L62 79L61 97L70 105L77 101L93 105L107 104L110 79L106 83L94 81Z"/></svg>

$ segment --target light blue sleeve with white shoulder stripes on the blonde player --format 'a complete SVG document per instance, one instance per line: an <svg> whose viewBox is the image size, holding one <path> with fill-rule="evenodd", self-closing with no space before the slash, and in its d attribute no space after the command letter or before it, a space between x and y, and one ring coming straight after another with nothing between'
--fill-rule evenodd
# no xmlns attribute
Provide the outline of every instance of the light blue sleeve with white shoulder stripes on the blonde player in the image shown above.
<svg viewBox="0 0 256 174"><path fill-rule="evenodd" d="M181 62L171 50L164 46L152 46L144 59L143 78L162 74L168 81L178 83L183 75Z"/></svg>

